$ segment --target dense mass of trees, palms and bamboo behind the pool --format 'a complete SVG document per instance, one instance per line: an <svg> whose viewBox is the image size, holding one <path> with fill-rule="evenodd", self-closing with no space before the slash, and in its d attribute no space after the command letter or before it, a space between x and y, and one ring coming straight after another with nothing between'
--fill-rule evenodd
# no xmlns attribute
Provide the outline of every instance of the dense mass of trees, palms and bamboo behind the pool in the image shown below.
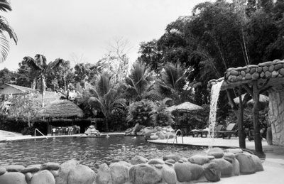
<svg viewBox="0 0 284 184"><path fill-rule="evenodd" d="M117 124L173 124L172 114L165 109L187 101L208 105L208 81L223 77L229 67L283 60L283 15L283 0L204 2L189 16L165 25L160 38L141 43L131 70L121 50L75 67L64 60L48 66L38 55L25 58L16 72L1 70L0 82L24 87L37 83L41 92L77 90L82 97L75 103L87 117L104 118L106 131L116 130ZM230 93L236 97L234 90ZM221 95L218 121L230 114L226 94ZM192 112L191 121L203 126L207 115Z"/></svg>

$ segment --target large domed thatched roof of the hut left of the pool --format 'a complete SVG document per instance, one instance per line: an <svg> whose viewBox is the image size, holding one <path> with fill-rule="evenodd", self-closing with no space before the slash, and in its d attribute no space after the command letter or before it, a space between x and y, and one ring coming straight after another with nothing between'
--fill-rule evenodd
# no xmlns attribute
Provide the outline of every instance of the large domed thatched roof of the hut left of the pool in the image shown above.
<svg viewBox="0 0 284 184"><path fill-rule="evenodd" d="M75 118L84 117L84 112L70 100L59 99L40 109L37 116L45 118Z"/></svg>

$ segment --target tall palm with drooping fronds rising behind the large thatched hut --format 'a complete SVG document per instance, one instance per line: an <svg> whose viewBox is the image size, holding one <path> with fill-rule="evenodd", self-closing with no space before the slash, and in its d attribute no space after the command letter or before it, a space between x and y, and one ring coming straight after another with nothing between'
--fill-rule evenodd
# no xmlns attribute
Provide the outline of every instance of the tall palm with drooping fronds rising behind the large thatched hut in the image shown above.
<svg viewBox="0 0 284 184"><path fill-rule="evenodd" d="M58 58L53 62L46 63L46 58L43 55L35 55L35 58L31 58L29 56L26 56L23 58L26 65L29 67L33 67L34 70L38 71L36 73L35 78L33 79L33 85L32 88L35 90L35 87L38 86L38 89L40 90L40 94L42 94L43 97L43 107L44 107L44 93L45 93L45 75L53 70L55 67L59 67L61 63L64 62L64 60Z"/></svg>

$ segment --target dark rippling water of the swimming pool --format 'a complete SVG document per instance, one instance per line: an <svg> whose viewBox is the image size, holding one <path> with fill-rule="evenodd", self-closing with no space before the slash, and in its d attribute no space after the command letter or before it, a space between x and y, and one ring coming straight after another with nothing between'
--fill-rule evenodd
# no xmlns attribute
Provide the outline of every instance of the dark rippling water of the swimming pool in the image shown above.
<svg viewBox="0 0 284 184"><path fill-rule="evenodd" d="M63 163L75 158L81 164L97 170L102 163L131 161L134 156L163 158L170 153L178 153L189 158L195 154L205 154L202 147L151 144L143 137L116 136L109 138L61 137L33 141L12 141L0 143L0 166L9 164Z"/></svg>

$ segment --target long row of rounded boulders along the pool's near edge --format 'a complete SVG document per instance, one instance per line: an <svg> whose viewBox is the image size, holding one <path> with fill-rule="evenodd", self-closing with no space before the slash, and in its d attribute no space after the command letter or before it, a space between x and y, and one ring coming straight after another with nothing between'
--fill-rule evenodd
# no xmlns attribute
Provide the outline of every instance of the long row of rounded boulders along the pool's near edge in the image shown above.
<svg viewBox="0 0 284 184"><path fill-rule="evenodd" d="M241 149L212 148L207 156L182 158L177 154L132 158L130 163L103 163L97 173L70 160L32 166L0 166L1 184L175 184L215 182L223 177L263 171L261 159Z"/></svg>

